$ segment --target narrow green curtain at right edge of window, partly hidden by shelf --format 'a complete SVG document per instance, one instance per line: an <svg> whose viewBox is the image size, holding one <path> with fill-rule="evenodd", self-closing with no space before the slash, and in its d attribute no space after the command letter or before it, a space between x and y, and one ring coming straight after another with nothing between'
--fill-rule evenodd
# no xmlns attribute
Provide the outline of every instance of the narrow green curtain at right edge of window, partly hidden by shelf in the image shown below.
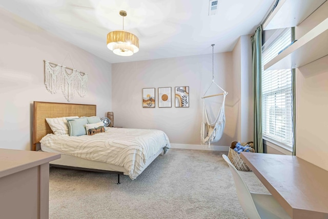
<svg viewBox="0 0 328 219"><path fill-rule="evenodd" d="M291 41L295 41L295 27L291 28ZM296 70L292 69L293 155L296 155Z"/></svg>

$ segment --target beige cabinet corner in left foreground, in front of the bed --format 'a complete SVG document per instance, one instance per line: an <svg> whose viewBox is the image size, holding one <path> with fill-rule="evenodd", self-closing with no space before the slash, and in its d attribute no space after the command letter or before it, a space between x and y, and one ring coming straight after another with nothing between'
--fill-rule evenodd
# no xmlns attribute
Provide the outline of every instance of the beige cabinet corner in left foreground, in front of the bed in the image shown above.
<svg viewBox="0 0 328 219"><path fill-rule="evenodd" d="M0 149L0 217L49 218L49 162L60 154Z"/></svg>

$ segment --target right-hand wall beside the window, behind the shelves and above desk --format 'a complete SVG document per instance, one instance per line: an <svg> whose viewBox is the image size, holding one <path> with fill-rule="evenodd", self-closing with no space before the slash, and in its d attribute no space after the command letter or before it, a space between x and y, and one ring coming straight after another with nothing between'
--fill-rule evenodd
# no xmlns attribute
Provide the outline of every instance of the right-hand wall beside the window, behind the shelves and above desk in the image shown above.
<svg viewBox="0 0 328 219"><path fill-rule="evenodd" d="M328 15L328 2L296 28L296 39ZM326 44L326 42L317 42ZM311 52L311 51L309 51ZM328 56L296 71L296 155L328 170Z"/></svg>

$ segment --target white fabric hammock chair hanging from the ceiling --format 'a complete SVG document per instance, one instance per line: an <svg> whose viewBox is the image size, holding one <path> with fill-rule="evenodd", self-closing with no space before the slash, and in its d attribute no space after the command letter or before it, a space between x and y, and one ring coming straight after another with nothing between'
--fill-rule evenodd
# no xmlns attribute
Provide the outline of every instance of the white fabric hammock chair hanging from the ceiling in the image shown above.
<svg viewBox="0 0 328 219"><path fill-rule="evenodd" d="M224 114L224 102L226 101L226 96L228 92L223 90L218 84L214 82L214 44L212 46L212 83L210 87L206 90L203 97L203 114L202 114L202 122L201 122L201 145L211 145L213 142L217 142L220 140L220 138L223 135L224 126L226 125L226 115ZM206 96L207 92L210 90L210 88L215 85L220 90L222 90L222 93L219 94L213 94ZM212 119L209 111L206 107L206 98L214 97L214 96L220 96L223 95L223 101L221 107L218 109L217 116Z"/></svg>

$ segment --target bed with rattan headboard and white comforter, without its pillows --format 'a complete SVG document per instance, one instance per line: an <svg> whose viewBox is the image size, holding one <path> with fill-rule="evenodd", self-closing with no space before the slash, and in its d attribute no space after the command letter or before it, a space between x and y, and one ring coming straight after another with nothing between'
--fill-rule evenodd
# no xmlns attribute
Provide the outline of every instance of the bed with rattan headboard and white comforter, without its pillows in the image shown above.
<svg viewBox="0 0 328 219"><path fill-rule="evenodd" d="M96 116L96 105L33 102L32 150L42 143L43 151L60 153L51 166L117 173L119 184L120 174L134 180L170 148L167 135L152 129L106 128L105 133L78 137L53 134L46 118L68 116Z"/></svg>

